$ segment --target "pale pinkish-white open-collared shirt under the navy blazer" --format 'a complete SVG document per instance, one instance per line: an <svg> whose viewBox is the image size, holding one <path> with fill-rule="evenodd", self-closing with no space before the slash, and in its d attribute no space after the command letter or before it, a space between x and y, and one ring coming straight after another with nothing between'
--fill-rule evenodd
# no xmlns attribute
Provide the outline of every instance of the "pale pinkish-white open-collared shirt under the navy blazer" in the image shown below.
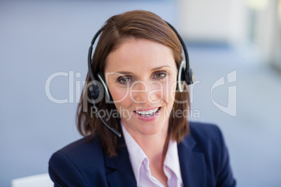
<svg viewBox="0 0 281 187"><path fill-rule="evenodd" d="M161 182L159 182L155 177L152 176L150 172L150 160L143 152L143 149L138 145L133 137L128 133L123 124L122 130L124 135L124 140L127 145L129 152L129 159L133 172L136 178L136 184L140 187L147 186L157 186L164 187ZM164 174L166 175L168 181L168 186L182 187L182 177L180 174L180 160L178 158L178 144L175 141L170 140L168 144L168 150L164 160Z"/></svg>

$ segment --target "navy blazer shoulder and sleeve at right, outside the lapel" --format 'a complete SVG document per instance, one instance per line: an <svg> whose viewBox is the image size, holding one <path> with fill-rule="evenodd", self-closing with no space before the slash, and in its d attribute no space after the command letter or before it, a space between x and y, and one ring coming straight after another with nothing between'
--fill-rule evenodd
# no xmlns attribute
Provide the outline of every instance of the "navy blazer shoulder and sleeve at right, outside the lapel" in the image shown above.
<svg viewBox="0 0 281 187"><path fill-rule="evenodd" d="M189 127L190 133L183 142L192 145L192 151L203 154L209 174L217 186L235 186L228 150L219 127L199 122L190 122Z"/></svg>

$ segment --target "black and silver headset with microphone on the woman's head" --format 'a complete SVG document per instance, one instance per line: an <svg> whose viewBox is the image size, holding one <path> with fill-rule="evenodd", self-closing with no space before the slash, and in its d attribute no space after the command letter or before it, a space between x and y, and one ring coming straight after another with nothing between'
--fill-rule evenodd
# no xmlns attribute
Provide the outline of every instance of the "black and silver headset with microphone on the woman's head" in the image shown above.
<svg viewBox="0 0 281 187"><path fill-rule="evenodd" d="M187 85L192 84L194 82L194 73L192 68L190 68L189 66L189 57L188 57L188 53L187 53L187 47L185 47L185 43L182 40L182 37L180 36L180 34L178 33L178 31L175 30L175 28L169 24L168 22L166 22L168 24L169 27L171 27L171 29L173 29L173 31L175 32L175 34L178 36L178 39L180 40L180 43L182 45L182 50L185 54L185 61L181 61L180 66L178 66L178 85L177 85L177 89L178 91L182 92L184 89L184 84L181 84L182 81L185 81L187 83ZM106 84L106 80L103 76L103 73L99 72L96 74L96 77L99 78L99 82L101 83L103 89L100 89L99 87L99 82L96 80L96 78L94 77L94 73L92 71L92 50L93 50L93 45L94 42L96 41L96 38L98 38L98 36L100 35L100 33L102 32L103 28L99 29L99 31L96 32L96 34L94 35L94 38L92 39L91 45L89 47L89 53L88 53L88 68L89 68L89 77L92 80L92 84L90 84L88 86L88 91L89 91L89 97L92 99L92 103L94 105L94 107L97 110L96 107L96 103L100 96L104 96L103 94L103 90L106 92L105 96L106 96L106 101L110 101L112 100L112 97L110 95L110 92L108 90L107 84ZM99 119L101 119L101 121L103 122L103 125L106 126L106 128L108 128L114 135L116 135L117 137L121 137L121 133L116 130L115 128L110 127L106 121L103 120L103 117L101 117L101 115L99 114L99 112L97 112L97 115L99 117Z"/></svg>

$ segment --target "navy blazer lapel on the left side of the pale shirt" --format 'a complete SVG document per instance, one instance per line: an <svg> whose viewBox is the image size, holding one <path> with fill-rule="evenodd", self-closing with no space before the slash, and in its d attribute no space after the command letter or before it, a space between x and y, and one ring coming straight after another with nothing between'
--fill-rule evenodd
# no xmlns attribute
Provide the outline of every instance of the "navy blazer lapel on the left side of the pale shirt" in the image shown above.
<svg viewBox="0 0 281 187"><path fill-rule="evenodd" d="M118 140L117 156L110 158L106 153L104 155L108 186L136 186L123 136Z"/></svg>

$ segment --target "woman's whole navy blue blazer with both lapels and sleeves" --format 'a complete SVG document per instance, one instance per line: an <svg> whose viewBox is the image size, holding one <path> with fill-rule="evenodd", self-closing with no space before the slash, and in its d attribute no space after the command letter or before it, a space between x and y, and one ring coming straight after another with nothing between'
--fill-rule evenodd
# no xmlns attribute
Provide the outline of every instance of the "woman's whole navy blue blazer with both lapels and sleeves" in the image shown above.
<svg viewBox="0 0 281 187"><path fill-rule="evenodd" d="M178 144L184 186L236 186L224 138L217 126L190 122L190 134ZM124 138L118 140L124 145ZM55 186L136 186L126 146L110 158L98 136L55 152L49 162Z"/></svg>

